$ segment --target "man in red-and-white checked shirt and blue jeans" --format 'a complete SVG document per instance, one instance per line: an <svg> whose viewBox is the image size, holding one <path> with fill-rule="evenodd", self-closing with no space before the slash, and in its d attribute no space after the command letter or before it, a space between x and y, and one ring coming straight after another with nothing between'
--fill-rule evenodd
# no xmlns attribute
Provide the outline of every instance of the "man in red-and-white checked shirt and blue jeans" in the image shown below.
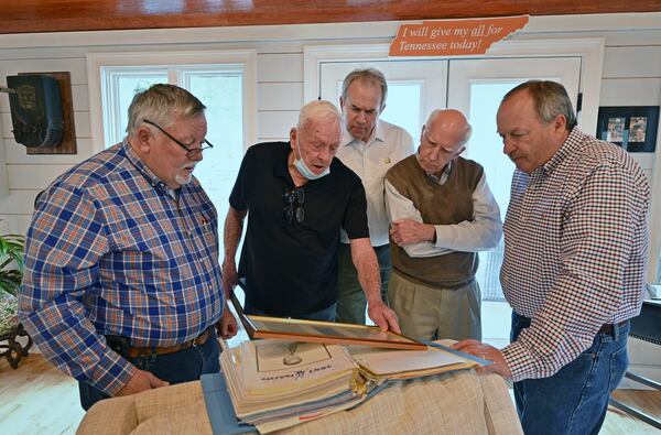
<svg viewBox="0 0 661 435"><path fill-rule="evenodd" d="M511 344L455 347L514 381L525 433L596 434L644 294L650 187L627 152L578 130L557 83L517 86L497 122L517 165L500 272Z"/></svg>

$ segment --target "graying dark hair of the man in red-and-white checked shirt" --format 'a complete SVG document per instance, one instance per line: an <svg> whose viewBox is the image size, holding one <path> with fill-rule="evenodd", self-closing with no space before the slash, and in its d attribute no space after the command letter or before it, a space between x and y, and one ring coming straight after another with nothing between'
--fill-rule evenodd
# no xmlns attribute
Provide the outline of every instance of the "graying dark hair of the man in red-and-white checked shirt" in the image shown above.
<svg viewBox="0 0 661 435"><path fill-rule="evenodd" d="M500 104L502 105L521 90L528 90L532 97L538 117L542 122L550 123L556 116L564 115L567 120L567 131L576 127L576 115L572 107L572 100L561 84L551 80L528 80L507 93Z"/></svg>

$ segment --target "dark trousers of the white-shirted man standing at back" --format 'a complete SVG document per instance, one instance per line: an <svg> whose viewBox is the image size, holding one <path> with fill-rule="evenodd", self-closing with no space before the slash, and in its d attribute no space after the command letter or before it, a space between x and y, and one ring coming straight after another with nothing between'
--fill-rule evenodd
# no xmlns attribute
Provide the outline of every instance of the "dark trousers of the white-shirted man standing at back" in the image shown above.
<svg viewBox="0 0 661 435"><path fill-rule="evenodd" d="M340 323L365 325L367 298L358 281L358 271L351 260L351 247L339 243L337 274L337 316ZM381 275L381 298L388 304L388 281L392 271L390 244L375 247Z"/></svg>

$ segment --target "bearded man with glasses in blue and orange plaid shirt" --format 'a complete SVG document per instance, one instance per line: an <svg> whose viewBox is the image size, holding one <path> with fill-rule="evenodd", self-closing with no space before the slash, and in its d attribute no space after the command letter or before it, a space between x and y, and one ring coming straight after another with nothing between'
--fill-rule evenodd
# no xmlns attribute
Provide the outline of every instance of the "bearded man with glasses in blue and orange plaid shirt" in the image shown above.
<svg viewBox="0 0 661 435"><path fill-rule="evenodd" d="M35 202L20 318L44 357L78 380L85 410L219 371L225 309L216 209L193 177L205 106L154 85L128 135L57 177Z"/></svg>

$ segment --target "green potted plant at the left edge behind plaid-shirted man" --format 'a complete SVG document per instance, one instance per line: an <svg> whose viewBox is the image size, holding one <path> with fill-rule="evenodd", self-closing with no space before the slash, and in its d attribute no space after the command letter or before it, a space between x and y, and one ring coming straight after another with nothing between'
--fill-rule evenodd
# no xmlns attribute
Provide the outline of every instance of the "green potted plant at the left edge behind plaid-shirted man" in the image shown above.
<svg viewBox="0 0 661 435"><path fill-rule="evenodd" d="M7 349L0 356L7 357L12 368L19 367L19 361L28 355L32 339L23 348L17 336L28 334L19 323L19 301L17 293L23 281L23 250L25 238L19 235L0 236L0 349Z"/></svg>

